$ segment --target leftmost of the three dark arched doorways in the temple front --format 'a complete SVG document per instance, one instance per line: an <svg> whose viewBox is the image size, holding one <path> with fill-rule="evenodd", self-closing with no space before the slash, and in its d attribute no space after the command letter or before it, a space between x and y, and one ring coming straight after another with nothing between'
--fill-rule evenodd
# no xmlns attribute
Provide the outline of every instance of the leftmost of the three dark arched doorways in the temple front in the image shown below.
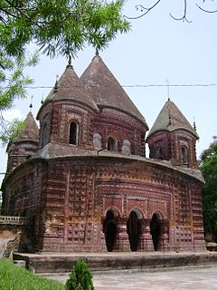
<svg viewBox="0 0 217 290"><path fill-rule="evenodd" d="M104 232L106 236L106 246L109 252L112 252L115 246L117 237L117 222L115 215L111 210L108 210L104 221Z"/></svg>

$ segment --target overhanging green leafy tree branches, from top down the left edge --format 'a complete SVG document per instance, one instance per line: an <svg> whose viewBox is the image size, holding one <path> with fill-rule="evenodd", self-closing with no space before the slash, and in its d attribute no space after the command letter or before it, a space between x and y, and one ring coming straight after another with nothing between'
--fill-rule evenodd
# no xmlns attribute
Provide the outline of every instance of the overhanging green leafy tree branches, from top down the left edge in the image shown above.
<svg viewBox="0 0 217 290"><path fill-rule="evenodd" d="M25 97L26 45L35 42L43 53L75 57L85 45L97 50L109 45L130 24L121 14L124 0L2 0L0 5L0 135L8 140L10 129L2 112L14 99Z"/></svg>

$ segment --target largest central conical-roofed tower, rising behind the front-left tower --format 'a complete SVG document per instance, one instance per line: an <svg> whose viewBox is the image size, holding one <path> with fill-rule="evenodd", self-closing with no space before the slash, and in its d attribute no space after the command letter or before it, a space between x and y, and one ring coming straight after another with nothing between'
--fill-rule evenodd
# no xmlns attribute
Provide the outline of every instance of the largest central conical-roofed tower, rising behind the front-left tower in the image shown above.
<svg viewBox="0 0 217 290"><path fill-rule="evenodd" d="M80 80L99 108L92 129L96 131L95 149L145 156L146 120L99 55L92 59Z"/></svg>

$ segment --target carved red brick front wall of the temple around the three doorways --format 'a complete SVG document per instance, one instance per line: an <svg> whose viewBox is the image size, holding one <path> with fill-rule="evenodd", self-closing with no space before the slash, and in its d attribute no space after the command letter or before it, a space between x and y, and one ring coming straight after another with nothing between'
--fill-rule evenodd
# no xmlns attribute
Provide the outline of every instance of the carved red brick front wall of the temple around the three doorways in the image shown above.
<svg viewBox="0 0 217 290"><path fill-rule="evenodd" d="M172 178L170 169L142 161L114 158L97 163L52 160L48 166L41 198L41 250L105 250L102 225L110 208L118 212L121 225L127 225L132 210L147 224L157 213L165 225L167 250L203 248L199 181L178 172Z"/></svg>

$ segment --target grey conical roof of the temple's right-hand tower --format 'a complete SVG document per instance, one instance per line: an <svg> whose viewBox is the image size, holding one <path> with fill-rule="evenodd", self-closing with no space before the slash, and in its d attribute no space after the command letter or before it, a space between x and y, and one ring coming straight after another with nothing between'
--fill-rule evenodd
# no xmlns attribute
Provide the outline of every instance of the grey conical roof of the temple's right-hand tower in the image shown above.
<svg viewBox="0 0 217 290"><path fill-rule="evenodd" d="M158 114L154 125L147 135L147 139L157 131L185 130L191 132L196 139L199 139L193 126L184 117L184 114L177 108L174 102L168 100Z"/></svg>

